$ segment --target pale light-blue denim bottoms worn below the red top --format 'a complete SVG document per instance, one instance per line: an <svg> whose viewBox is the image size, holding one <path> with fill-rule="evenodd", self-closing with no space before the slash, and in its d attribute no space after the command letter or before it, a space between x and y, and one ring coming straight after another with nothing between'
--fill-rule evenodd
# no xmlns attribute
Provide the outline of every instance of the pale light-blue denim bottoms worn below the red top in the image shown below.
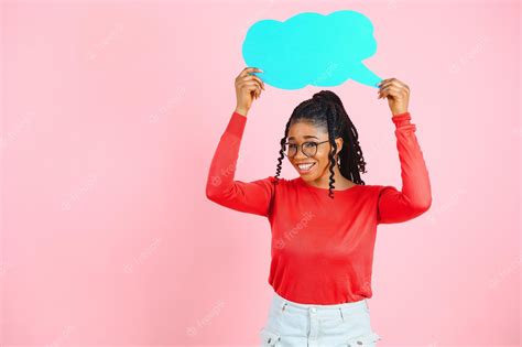
<svg viewBox="0 0 522 347"><path fill-rule="evenodd" d="M274 292L260 346L359 347L381 339L371 328L367 300L336 305L301 304Z"/></svg>

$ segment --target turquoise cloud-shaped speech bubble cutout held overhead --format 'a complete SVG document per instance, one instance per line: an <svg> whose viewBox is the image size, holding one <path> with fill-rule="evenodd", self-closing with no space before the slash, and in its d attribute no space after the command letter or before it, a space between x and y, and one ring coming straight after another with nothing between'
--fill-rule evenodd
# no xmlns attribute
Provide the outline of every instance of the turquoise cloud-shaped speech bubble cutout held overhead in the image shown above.
<svg viewBox="0 0 522 347"><path fill-rule="evenodd" d="M250 26L242 45L247 66L263 71L252 74L281 89L333 87L348 79L379 88L382 78L362 63L376 51L371 21L348 10L262 20Z"/></svg>

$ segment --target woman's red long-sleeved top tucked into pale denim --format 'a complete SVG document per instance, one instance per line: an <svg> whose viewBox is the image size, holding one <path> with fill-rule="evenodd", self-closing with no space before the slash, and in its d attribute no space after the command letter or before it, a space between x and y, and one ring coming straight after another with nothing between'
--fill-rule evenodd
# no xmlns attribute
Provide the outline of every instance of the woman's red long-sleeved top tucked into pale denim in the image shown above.
<svg viewBox="0 0 522 347"><path fill-rule="evenodd" d="M304 304L340 304L372 296L371 272L377 226L423 214L432 204L431 185L410 112L395 124L402 191L356 185L334 191L298 176L252 182L235 180L247 117L233 112L215 151L207 197L228 208L264 216L272 229L269 284L281 296Z"/></svg>

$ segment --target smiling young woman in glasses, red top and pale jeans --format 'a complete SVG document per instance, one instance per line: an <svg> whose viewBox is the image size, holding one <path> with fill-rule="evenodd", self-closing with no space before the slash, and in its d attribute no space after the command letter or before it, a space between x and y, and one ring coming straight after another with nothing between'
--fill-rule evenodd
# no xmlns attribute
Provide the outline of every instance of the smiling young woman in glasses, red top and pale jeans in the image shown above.
<svg viewBox="0 0 522 347"><path fill-rule="evenodd" d="M402 191L366 185L358 132L341 100L322 90L301 102L281 139L275 176L235 181L239 147L263 82L244 68L236 78L237 108L210 164L206 195L222 206L264 216L272 228L269 283L274 289L261 346L374 346L368 299L379 224L426 212L431 185L415 124L410 88L395 78L379 84L395 124ZM286 156L298 176L280 178Z"/></svg>

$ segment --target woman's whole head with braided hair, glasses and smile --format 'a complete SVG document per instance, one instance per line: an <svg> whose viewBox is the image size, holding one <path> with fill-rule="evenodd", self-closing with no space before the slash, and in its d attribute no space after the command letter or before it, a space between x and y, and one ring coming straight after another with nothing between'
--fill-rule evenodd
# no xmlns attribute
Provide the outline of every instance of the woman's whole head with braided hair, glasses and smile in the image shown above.
<svg viewBox="0 0 522 347"><path fill-rule="evenodd" d="M333 91L322 90L294 109L281 148L276 178L285 155L304 181L316 187L327 186L330 197L336 187L342 191L365 184L359 175L366 172L366 162L357 129Z"/></svg>

